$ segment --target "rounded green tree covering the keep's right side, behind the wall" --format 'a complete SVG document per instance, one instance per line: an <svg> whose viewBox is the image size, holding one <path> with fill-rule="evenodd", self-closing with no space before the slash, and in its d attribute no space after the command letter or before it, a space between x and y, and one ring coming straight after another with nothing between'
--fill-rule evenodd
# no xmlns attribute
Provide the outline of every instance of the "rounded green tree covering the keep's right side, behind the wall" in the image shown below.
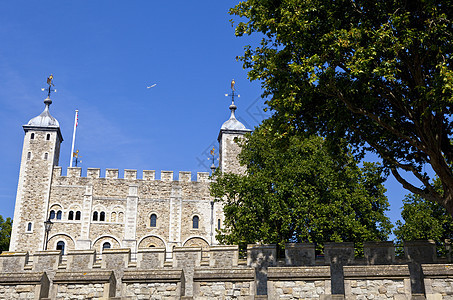
<svg viewBox="0 0 453 300"><path fill-rule="evenodd" d="M275 136L264 125L242 144L246 175L218 173L225 244L386 240L391 224L380 168L343 149L330 155L320 137Z"/></svg>

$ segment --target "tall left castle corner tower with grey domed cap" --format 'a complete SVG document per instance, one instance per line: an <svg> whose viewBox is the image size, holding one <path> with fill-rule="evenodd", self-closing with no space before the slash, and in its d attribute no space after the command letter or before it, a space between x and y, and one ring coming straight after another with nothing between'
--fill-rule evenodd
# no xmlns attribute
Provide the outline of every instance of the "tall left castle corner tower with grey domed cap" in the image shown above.
<svg viewBox="0 0 453 300"><path fill-rule="evenodd" d="M58 165L63 141L60 125L49 112L49 96L44 100L44 111L23 125L25 137L10 251L35 252L45 247L44 221L48 218L52 171Z"/></svg>

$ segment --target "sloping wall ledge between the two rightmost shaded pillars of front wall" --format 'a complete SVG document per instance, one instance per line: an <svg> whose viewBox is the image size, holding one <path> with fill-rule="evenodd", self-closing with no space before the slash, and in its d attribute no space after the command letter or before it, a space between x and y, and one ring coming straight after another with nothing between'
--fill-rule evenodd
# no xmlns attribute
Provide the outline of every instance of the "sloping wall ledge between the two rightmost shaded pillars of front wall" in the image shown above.
<svg viewBox="0 0 453 300"><path fill-rule="evenodd" d="M407 265L344 266L345 279L409 278Z"/></svg>

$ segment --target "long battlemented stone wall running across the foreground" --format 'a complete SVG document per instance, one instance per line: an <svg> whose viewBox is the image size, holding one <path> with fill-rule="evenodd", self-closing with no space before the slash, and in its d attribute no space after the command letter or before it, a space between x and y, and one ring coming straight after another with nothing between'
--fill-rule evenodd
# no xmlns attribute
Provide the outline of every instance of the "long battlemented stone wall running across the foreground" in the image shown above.
<svg viewBox="0 0 453 300"><path fill-rule="evenodd" d="M1 299L453 299L453 264L431 241L3 252Z"/></svg>

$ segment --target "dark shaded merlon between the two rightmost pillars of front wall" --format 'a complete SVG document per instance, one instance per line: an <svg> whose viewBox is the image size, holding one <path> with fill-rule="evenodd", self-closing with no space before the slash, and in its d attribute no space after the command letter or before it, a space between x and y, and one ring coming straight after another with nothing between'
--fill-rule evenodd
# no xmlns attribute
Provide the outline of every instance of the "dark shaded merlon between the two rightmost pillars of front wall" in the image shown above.
<svg viewBox="0 0 453 300"><path fill-rule="evenodd" d="M395 262L395 246L392 241L365 242L363 252L368 265L391 265Z"/></svg>

